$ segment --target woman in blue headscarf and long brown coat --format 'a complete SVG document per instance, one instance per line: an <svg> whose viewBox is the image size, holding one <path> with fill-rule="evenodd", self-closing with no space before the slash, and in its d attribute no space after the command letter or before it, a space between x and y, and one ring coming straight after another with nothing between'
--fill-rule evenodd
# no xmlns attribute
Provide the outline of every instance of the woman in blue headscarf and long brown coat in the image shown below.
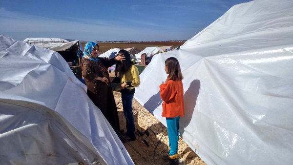
<svg viewBox="0 0 293 165"><path fill-rule="evenodd" d="M110 83L114 78L109 77L107 68L122 62L125 57L120 54L108 59L99 58L98 54L99 45L97 43L90 41L85 44L82 69L87 95L100 108L108 122L119 131L118 111Z"/></svg>

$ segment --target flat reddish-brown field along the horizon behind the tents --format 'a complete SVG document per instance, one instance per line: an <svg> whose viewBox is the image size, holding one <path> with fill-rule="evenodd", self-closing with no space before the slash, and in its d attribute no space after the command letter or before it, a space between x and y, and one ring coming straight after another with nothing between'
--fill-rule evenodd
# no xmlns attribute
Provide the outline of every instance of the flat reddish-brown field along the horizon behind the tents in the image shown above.
<svg viewBox="0 0 293 165"><path fill-rule="evenodd" d="M109 49L112 48L120 48L120 49L126 49L135 47L139 50L144 50L146 47L152 47L152 46L174 46L174 48L181 46L185 43L185 41L157 41L157 42L100 42L99 44L99 53L103 54ZM82 43L83 46L85 46L85 43Z"/></svg>

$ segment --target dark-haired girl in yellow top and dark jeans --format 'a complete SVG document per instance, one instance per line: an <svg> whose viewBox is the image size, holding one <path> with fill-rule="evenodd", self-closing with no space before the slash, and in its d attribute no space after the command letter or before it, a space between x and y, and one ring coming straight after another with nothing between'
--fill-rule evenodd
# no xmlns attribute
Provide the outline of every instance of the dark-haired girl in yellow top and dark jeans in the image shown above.
<svg viewBox="0 0 293 165"><path fill-rule="evenodd" d="M140 84L140 78L138 69L135 64L131 61L131 57L128 51L121 49L118 55L124 55L125 61L117 64L116 73L119 73L121 79L121 98L123 104L123 113L126 118L126 129L125 138L127 141L135 141L136 137L134 134L135 125L132 113L132 100L135 93L135 88Z"/></svg>

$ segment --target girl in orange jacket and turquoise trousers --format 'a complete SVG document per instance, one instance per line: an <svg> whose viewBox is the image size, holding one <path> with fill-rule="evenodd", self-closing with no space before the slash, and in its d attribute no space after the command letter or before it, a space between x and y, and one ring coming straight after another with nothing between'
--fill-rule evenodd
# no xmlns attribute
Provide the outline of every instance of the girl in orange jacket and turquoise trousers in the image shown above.
<svg viewBox="0 0 293 165"><path fill-rule="evenodd" d="M170 152L162 159L178 163L179 120L184 116L182 73L178 60L170 57L165 61L165 71L169 76L160 85L163 102L162 116L166 117Z"/></svg>

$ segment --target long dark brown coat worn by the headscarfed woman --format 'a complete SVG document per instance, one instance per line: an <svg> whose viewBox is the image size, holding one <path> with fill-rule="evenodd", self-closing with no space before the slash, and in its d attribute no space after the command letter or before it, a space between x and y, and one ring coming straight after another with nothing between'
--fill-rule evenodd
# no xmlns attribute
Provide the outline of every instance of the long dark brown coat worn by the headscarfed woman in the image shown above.
<svg viewBox="0 0 293 165"><path fill-rule="evenodd" d="M84 59L82 62L84 81L87 87L88 97L100 108L105 118L117 130L120 130L117 107L111 87L111 83L96 80L97 77L109 79L107 68L116 64L114 58L99 58L100 62Z"/></svg>

